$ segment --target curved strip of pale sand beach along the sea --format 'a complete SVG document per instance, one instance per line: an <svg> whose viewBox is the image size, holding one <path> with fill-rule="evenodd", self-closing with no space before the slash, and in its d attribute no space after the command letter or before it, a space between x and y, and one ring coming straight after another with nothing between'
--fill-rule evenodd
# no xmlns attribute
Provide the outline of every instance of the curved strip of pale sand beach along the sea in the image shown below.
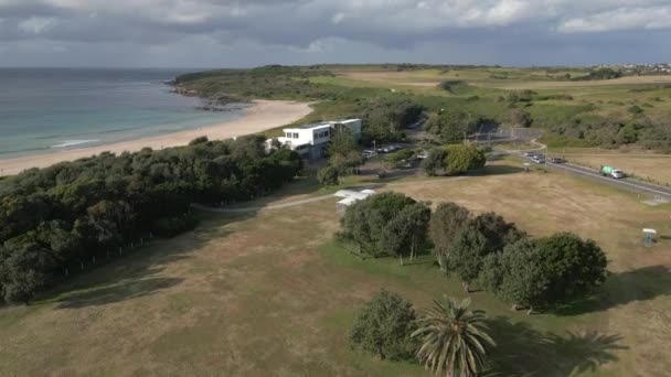
<svg viewBox="0 0 671 377"><path fill-rule="evenodd" d="M105 151L118 154L125 151L139 151L145 147L162 149L185 146L189 141L201 136L206 136L211 140L230 139L291 123L307 116L310 111L312 111L312 109L309 104L305 103L255 100L254 106L245 109L246 115L244 118L226 123L113 144L0 160L0 175L13 175L30 168L45 168L57 162L77 160Z"/></svg>

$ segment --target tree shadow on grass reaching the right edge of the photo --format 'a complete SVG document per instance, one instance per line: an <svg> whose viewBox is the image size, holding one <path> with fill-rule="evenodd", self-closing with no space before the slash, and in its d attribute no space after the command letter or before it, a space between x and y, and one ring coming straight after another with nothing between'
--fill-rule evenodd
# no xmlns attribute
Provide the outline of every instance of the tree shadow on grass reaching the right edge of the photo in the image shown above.
<svg viewBox="0 0 671 377"><path fill-rule="evenodd" d="M581 315L600 312L632 301L653 300L671 295L671 270L664 266L613 273L598 292L584 300L558 308L555 314Z"/></svg>

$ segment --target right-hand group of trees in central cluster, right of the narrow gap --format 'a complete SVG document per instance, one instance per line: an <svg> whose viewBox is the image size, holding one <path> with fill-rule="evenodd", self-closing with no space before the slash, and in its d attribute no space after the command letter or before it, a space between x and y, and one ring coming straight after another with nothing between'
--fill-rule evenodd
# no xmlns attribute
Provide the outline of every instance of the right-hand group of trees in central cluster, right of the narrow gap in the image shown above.
<svg viewBox="0 0 671 377"><path fill-rule="evenodd" d="M569 302L606 280L606 256L594 240L571 233L532 239L494 213L473 216L455 203L438 205L429 226L440 268L469 291L479 282L513 308Z"/></svg>

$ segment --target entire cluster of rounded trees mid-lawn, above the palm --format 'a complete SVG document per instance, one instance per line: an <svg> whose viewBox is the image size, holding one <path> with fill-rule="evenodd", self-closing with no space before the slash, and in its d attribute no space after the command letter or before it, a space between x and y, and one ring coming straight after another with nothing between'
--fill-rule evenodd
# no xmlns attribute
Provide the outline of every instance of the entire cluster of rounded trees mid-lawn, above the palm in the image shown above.
<svg viewBox="0 0 671 377"><path fill-rule="evenodd" d="M588 294L606 280L606 256L593 240L569 233L532 239L493 212L479 215L455 203L432 213L398 193L370 196L351 205L338 237L359 252L412 261L433 244L439 268L480 283L513 308L550 308ZM430 241L429 241L430 239Z"/></svg>

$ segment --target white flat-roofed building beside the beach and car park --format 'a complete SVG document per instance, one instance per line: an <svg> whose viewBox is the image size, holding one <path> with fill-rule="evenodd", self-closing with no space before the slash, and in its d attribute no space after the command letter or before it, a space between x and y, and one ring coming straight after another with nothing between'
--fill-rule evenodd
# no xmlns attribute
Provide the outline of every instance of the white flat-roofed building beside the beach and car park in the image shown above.
<svg viewBox="0 0 671 377"><path fill-rule="evenodd" d="M284 136L277 140L307 159L319 159L324 155L337 127L348 127L355 138L361 137L361 119L347 119L285 128Z"/></svg>

